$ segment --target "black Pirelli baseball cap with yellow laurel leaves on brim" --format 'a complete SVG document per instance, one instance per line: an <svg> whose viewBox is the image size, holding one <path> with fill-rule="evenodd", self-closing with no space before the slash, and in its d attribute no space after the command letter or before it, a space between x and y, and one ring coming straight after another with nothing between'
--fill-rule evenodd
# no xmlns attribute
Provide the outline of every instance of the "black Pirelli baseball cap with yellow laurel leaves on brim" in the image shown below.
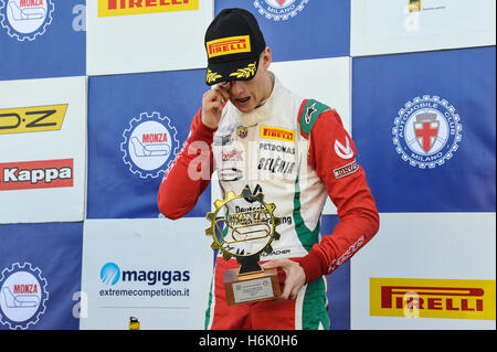
<svg viewBox="0 0 497 352"><path fill-rule="evenodd" d="M205 83L211 86L252 79L265 47L264 35L251 12L236 8L222 10L205 32Z"/></svg>

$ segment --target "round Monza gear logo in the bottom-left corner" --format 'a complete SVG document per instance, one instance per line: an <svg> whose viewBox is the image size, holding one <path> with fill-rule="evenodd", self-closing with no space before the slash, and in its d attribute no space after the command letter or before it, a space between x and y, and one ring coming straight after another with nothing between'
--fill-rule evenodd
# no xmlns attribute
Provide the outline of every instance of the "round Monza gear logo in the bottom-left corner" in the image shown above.
<svg viewBox="0 0 497 352"><path fill-rule="evenodd" d="M0 274L0 322L10 329L28 329L45 312L46 279L30 263L15 263Z"/></svg>

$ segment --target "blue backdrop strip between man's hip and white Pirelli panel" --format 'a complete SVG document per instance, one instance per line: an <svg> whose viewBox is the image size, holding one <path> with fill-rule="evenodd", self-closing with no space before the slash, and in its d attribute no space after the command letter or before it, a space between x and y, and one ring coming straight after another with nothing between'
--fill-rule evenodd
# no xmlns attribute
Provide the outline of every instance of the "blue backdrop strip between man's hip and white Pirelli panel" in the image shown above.
<svg viewBox="0 0 497 352"><path fill-rule="evenodd" d="M321 235L329 236L338 224L337 215L324 215ZM328 275L328 314L331 330L350 329L350 262Z"/></svg>

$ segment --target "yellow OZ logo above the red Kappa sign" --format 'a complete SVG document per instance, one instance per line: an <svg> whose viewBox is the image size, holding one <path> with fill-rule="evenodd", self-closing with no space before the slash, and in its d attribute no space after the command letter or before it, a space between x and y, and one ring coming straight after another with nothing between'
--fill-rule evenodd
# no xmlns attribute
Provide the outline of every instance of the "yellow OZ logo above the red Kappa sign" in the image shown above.
<svg viewBox="0 0 497 352"><path fill-rule="evenodd" d="M67 104L0 109L0 135L60 130Z"/></svg>

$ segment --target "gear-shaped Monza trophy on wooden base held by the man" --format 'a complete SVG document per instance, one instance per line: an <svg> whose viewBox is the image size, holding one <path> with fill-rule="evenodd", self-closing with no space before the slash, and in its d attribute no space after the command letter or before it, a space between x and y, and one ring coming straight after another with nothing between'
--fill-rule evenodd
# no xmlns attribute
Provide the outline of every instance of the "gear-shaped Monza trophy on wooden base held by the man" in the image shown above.
<svg viewBox="0 0 497 352"><path fill-rule="evenodd" d="M279 239L276 226L282 220L274 216L276 205L265 203L262 192L252 194L248 186L241 194L226 192L225 199L214 201L214 205L215 211L207 214L211 224L205 235L213 239L212 249L220 249L225 260L234 257L240 264L239 268L224 271L228 305L281 297L277 269L263 269L258 265L261 253L271 254L272 242ZM221 216L223 207L225 214Z"/></svg>

